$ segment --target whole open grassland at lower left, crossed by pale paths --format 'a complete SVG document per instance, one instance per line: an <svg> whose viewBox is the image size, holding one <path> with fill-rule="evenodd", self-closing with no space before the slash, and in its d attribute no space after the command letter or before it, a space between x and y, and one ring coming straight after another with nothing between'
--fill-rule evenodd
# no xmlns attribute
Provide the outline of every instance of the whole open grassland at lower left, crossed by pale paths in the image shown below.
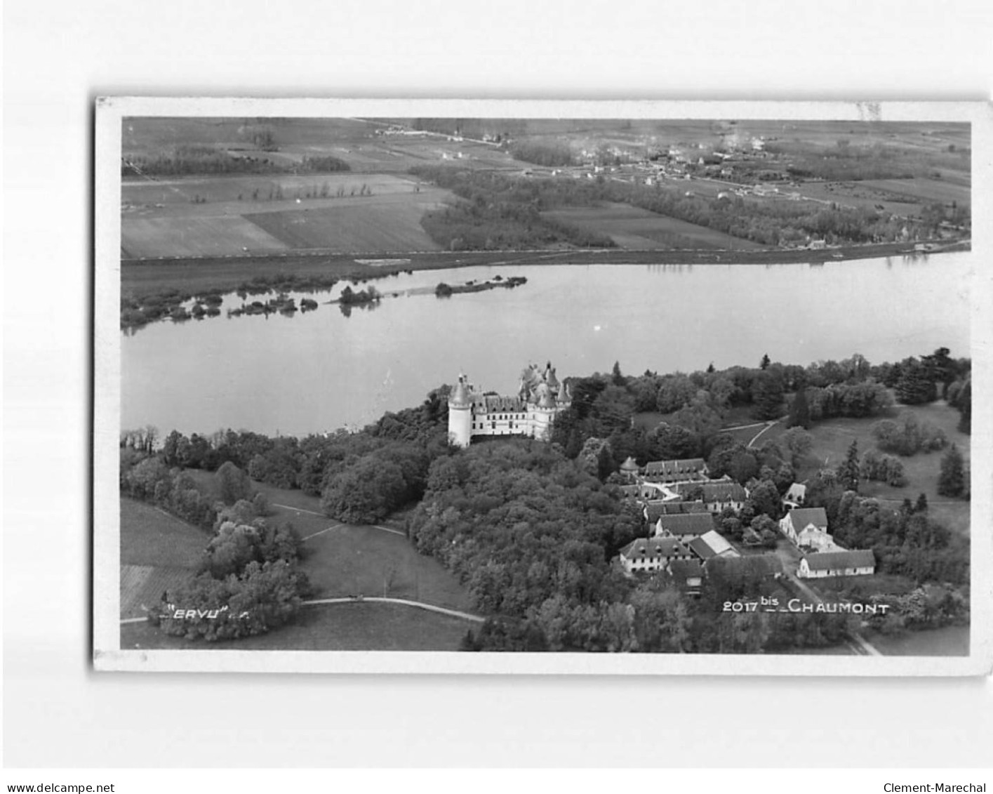
<svg viewBox="0 0 993 794"><path fill-rule="evenodd" d="M189 470L198 487L215 496L213 473ZM383 595L408 598L457 610L471 610L466 589L437 560L418 555L402 535L375 527L355 527L321 515L317 497L255 484L271 504L268 520L289 521L307 539L301 561L314 585L315 598ZM141 604L158 603L162 591L192 576L208 537L153 507L122 499L121 617L144 615ZM126 540L125 540L126 539ZM154 566L151 560L161 559ZM125 591L127 600L125 600ZM264 637L210 648L271 650L456 650L467 624L457 618L400 605L356 603L306 607L299 620ZM122 648L187 648L144 623L121 629Z"/></svg>

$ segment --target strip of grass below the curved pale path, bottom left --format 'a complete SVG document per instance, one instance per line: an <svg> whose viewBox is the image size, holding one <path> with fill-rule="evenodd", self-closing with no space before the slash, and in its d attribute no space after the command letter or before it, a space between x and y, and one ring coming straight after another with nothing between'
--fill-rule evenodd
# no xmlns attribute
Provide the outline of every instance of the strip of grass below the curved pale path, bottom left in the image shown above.
<svg viewBox="0 0 993 794"><path fill-rule="evenodd" d="M305 606L294 623L268 634L213 643L161 633L148 623L121 626L121 650L457 651L475 624L401 604Z"/></svg>

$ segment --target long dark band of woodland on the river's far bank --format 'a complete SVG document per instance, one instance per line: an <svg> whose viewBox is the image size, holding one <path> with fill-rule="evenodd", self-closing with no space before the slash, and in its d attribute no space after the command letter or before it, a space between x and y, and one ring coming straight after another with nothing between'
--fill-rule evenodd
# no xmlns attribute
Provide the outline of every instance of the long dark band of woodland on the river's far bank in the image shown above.
<svg viewBox="0 0 993 794"><path fill-rule="evenodd" d="M763 245L800 243L823 238L829 244L893 242L905 227L911 237L936 234L938 225L957 209L938 205L918 223L908 223L873 209L810 205L803 202L754 201L734 197L715 199L687 195L678 187L652 186L601 178L528 179L452 166L421 166L412 173L447 188L466 201L427 213L425 231L436 242L457 249L526 247L565 241L610 245L609 238L579 229L546 227L546 210L591 207L604 202L630 204L660 216L714 229ZM961 212L964 212L961 211ZM526 233L526 234L525 234ZM554 234L553 234L554 233ZM489 240L489 244L488 244Z"/></svg>

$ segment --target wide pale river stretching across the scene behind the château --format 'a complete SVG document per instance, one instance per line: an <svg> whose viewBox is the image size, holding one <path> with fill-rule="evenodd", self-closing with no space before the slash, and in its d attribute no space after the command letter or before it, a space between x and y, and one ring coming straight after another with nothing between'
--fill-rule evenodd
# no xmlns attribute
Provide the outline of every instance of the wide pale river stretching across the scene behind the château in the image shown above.
<svg viewBox="0 0 993 794"><path fill-rule="evenodd" d="M222 313L122 332L121 422L163 434L231 427L306 435L419 404L460 371L485 390L513 393L524 366L546 360L562 378L609 372L615 361L639 374L757 366L764 354L801 365L853 353L895 361L941 346L968 356L974 256L401 274L369 283L413 294L348 317L324 303L336 290L313 295L320 307L292 317ZM527 283L431 293L439 281L497 274ZM224 308L240 303L231 295Z"/></svg>

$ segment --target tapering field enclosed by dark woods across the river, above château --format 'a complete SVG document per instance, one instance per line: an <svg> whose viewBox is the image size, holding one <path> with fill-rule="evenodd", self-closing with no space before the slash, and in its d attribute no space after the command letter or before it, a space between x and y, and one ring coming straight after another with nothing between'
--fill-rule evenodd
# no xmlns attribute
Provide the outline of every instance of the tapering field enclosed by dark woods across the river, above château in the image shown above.
<svg viewBox="0 0 993 794"><path fill-rule="evenodd" d="M627 204L578 207L542 213L545 218L608 235L624 248L724 248L758 250L747 239L733 238L707 227L655 215Z"/></svg>

